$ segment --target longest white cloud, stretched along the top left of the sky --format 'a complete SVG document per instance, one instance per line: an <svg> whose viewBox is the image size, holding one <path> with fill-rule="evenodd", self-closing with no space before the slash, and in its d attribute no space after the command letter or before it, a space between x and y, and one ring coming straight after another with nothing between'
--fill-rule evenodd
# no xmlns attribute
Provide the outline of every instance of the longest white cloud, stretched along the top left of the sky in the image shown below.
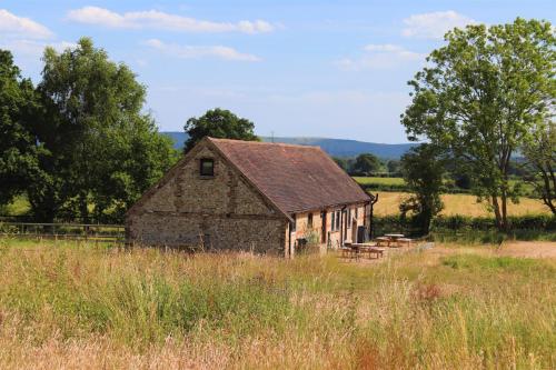
<svg viewBox="0 0 556 370"><path fill-rule="evenodd" d="M264 20L232 22L212 22L195 18L165 13L158 10L130 11L117 13L105 8L85 7L68 12L70 20L122 29L160 29L183 32L270 32L275 27Z"/></svg>

